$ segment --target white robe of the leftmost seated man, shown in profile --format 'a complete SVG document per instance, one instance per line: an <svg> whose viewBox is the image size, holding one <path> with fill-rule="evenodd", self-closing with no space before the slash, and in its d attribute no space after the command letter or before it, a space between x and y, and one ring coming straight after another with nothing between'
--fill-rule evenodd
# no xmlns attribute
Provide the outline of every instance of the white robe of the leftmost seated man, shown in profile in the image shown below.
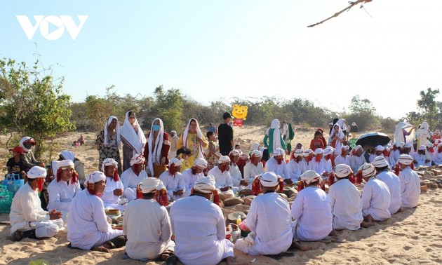
<svg viewBox="0 0 442 265"><path fill-rule="evenodd" d="M34 191L29 184L21 186L15 193L9 219L11 235L18 230L35 229L37 238L51 238L63 226L62 219L50 220L48 212L41 208L38 191Z"/></svg>

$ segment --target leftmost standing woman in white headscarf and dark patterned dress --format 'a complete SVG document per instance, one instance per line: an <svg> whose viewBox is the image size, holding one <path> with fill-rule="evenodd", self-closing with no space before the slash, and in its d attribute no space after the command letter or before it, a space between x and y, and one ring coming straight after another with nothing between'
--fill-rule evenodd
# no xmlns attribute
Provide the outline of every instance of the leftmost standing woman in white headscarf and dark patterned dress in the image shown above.
<svg viewBox="0 0 442 265"><path fill-rule="evenodd" d="M121 165L119 147L120 125L118 118L110 116L105 123L105 129L97 135L97 140L95 140L95 148L99 154L98 170L101 169L101 165L106 158L114 158ZM121 167L119 167L118 172L121 175Z"/></svg>

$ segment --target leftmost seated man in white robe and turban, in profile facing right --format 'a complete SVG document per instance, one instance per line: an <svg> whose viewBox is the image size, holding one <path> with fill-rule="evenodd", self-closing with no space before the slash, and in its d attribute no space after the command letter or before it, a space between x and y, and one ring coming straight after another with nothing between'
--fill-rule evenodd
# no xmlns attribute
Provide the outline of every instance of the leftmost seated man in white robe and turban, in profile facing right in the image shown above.
<svg viewBox="0 0 442 265"><path fill-rule="evenodd" d="M61 212L41 209L37 179L43 181L45 177L46 169L39 166L31 168L27 172L27 183L15 193L9 213L11 240L51 238L62 229Z"/></svg>

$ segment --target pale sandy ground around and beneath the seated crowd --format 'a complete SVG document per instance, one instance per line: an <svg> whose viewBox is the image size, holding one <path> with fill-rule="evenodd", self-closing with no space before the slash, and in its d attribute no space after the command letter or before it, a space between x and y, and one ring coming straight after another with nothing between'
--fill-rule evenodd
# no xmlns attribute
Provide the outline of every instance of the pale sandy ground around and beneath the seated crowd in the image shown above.
<svg viewBox="0 0 442 265"><path fill-rule="evenodd" d="M253 142L262 142L266 127L235 128L236 142L248 150ZM308 144L313 130L296 132L295 142ZM98 151L94 149L94 133L84 133L86 145L72 147L79 132L60 137L60 151L74 151L86 164L86 172L98 168ZM4 140L4 139L2 139ZM6 164L8 154L1 151L0 163ZM45 161L46 162L46 161ZM3 171L5 171L4 168ZM441 176L442 177L442 176ZM294 257L279 261L269 257L250 257L235 251L241 264L441 264L442 263L442 203L441 189L428 189L420 197L420 205L393 215L387 222L377 223L368 229L339 231L337 239L323 240L309 245L314 250L294 250ZM229 207L230 210L235 208ZM229 210L226 209L226 210ZM0 221L8 221L7 214L0 214ZM124 248L111 253L71 250L67 248L66 233L58 233L46 240L24 239L13 243L9 240L10 226L0 224L0 264L28 264L35 259L46 259L50 264L163 264L161 261L143 263L123 260Z"/></svg>

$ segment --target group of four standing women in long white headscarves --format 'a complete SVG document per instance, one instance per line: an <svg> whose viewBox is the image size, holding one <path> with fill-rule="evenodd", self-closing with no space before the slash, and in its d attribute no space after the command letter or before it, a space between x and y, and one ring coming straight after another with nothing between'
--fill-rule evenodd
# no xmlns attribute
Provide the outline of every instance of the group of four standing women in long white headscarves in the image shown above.
<svg viewBox="0 0 442 265"><path fill-rule="evenodd" d="M121 163L119 151L121 143L123 143L123 163ZM178 140L178 149L185 147L191 151L190 155L185 158L188 165L194 165L196 158L204 156L203 148L207 144L198 121L191 118ZM162 172L167 170L170 140L168 133L164 131L161 118L154 119L151 130L145 136L133 111L126 113L126 119L121 128L118 118L109 116L104 130L98 134L95 140L95 147L99 153L98 165L102 165L106 158L114 158L118 163L119 175L130 168L130 159L135 154L145 156L147 173L152 177L159 177Z"/></svg>

